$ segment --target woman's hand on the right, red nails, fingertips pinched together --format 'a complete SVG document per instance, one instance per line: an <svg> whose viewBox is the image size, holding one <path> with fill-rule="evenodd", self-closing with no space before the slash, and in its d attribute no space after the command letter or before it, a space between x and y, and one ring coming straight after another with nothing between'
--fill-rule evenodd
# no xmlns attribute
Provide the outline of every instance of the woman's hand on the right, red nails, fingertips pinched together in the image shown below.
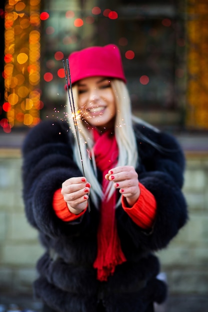
<svg viewBox="0 0 208 312"><path fill-rule="evenodd" d="M105 178L114 182L115 188L126 197L126 201L132 207L140 195L138 174L133 166L119 166L112 168L105 175Z"/></svg>

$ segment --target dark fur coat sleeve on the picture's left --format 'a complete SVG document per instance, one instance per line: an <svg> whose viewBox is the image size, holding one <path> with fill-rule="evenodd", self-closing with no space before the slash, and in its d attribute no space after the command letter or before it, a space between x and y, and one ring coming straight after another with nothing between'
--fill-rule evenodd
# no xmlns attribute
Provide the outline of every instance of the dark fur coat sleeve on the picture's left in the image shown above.
<svg viewBox="0 0 208 312"><path fill-rule="evenodd" d="M26 217L50 237L77 234L88 225L88 214L72 226L60 220L52 208L53 194L62 183L72 176L82 176L72 160L72 144L66 123L44 121L29 131L22 147Z"/></svg>

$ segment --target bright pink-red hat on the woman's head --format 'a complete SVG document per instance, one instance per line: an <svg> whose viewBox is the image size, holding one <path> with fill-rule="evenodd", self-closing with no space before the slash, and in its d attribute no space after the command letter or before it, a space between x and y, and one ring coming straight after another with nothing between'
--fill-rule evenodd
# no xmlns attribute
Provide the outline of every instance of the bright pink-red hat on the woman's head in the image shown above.
<svg viewBox="0 0 208 312"><path fill-rule="evenodd" d="M121 54L115 44L92 46L72 52L69 55L69 67L72 84L92 76L118 78L126 83Z"/></svg>

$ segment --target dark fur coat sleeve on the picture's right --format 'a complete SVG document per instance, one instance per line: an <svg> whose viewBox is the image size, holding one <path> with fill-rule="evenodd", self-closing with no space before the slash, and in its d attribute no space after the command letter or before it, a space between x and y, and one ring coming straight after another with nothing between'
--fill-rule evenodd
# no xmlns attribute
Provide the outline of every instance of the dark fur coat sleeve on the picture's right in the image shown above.
<svg viewBox="0 0 208 312"><path fill-rule="evenodd" d="M166 247L188 219L187 203L182 193L185 156L177 140L172 135L142 125L135 128L135 133L139 181L155 196L157 213L153 228L144 231L124 210L118 209L121 241L129 240L129 245L124 247L128 249L127 255L132 245L152 251Z"/></svg>

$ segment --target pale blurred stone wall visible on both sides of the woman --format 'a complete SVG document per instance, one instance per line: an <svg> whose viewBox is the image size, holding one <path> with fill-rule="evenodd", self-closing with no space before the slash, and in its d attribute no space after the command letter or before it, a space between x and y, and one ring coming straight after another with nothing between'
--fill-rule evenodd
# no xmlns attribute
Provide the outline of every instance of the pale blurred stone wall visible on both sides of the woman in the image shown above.
<svg viewBox="0 0 208 312"><path fill-rule="evenodd" d="M24 215L19 149L0 149L0 293L31 293L42 254ZM158 253L172 294L208 292L208 153L187 153L184 193L190 219Z"/></svg>

